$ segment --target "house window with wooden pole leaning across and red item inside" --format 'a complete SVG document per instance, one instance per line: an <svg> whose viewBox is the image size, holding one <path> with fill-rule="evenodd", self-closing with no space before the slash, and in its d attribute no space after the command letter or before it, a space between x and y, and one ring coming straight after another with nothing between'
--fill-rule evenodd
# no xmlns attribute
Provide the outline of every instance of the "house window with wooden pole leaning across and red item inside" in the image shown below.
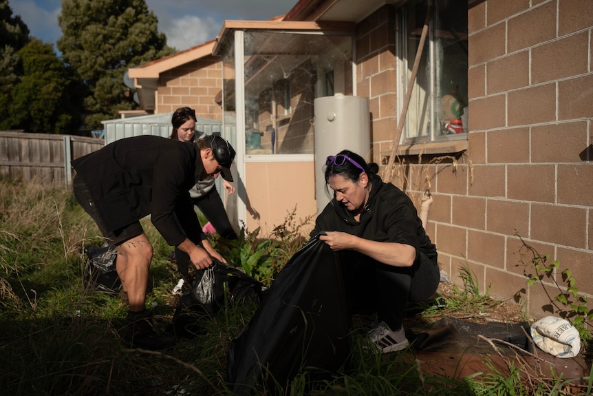
<svg viewBox="0 0 593 396"><path fill-rule="evenodd" d="M467 2L411 1L402 9L400 57L407 90L422 28L431 10L416 81L407 110L402 143L428 143L467 137ZM403 107L405 94L400 96ZM402 98L403 96L403 98Z"/></svg>

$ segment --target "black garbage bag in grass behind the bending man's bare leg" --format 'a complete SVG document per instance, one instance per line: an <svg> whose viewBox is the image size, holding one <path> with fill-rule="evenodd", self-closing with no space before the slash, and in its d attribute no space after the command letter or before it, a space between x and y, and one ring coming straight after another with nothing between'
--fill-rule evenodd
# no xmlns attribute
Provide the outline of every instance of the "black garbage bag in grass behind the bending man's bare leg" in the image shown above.
<svg viewBox="0 0 593 396"><path fill-rule="evenodd" d="M99 291L118 293L122 282L116 271L116 247L107 244L97 247L89 245L85 248L89 264L85 268L85 282Z"/></svg>

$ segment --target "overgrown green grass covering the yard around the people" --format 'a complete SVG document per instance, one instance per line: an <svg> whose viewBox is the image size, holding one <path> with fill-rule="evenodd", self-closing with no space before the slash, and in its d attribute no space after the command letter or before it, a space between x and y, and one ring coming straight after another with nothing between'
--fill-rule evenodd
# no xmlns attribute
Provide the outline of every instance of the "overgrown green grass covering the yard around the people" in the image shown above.
<svg viewBox="0 0 593 396"><path fill-rule="evenodd" d="M172 248L149 221L142 224L155 247L147 304L164 329L176 303L171 295L177 283L169 262ZM303 242L297 232L301 224L293 211L273 238L266 240L254 232L244 234L237 246L216 239L213 243L227 249L229 257L235 255L242 266L243 260L265 249L265 255L257 253L257 260L252 259L258 262L252 269L270 284ZM94 222L69 191L0 180L0 393L230 395L226 354L230 341L255 313L255 304L229 306L202 317L200 333L162 353L129 350L118 339L126 314L118 295L95 291L83 281L87 265L83 249L102 243ZM468 293L460 291L459 300L466 300L464 306L474 304L469 309L475 310L484 296L475 293L471 273L466 276ZM413 349L381 355L361 348L361 336L356 334L352 355L337 373L319 379L314 370L303 368L287 388L261 388L255 395L568 394L562 392L570 381L553 375L545 382L529 378L534 386L518 388L525 379L518 369L508 377L493 367L480 379L423 375ZM590 386L576 390L572 394L590 394Z"/></svg>

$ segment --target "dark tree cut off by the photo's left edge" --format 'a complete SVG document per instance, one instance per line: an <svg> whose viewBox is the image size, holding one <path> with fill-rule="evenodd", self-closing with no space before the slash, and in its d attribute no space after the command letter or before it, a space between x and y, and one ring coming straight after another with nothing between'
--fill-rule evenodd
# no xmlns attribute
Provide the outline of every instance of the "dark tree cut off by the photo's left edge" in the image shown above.
<svg viewBox="0 0 593 396"><path fill-rule="evenodd" d="M21 17L12 17L8 0L0 0L0 128L9 129L6 118L10 104L10 93L19 82L17 51L29 41L29 28Z"/></svg>

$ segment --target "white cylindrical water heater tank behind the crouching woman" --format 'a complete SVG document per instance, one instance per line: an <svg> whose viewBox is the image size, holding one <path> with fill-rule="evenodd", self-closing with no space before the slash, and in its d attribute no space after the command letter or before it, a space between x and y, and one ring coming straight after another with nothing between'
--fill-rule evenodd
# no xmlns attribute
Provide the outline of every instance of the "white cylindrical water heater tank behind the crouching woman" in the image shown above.
<svg viewBox="0 0 593 396"><path fill-rule="evenodd" d="M333 191L325 186L325 158L348 149L369 160L369 98L343 94L316 98L314 114L315 199L319 214L333 198Z"/></svg>

